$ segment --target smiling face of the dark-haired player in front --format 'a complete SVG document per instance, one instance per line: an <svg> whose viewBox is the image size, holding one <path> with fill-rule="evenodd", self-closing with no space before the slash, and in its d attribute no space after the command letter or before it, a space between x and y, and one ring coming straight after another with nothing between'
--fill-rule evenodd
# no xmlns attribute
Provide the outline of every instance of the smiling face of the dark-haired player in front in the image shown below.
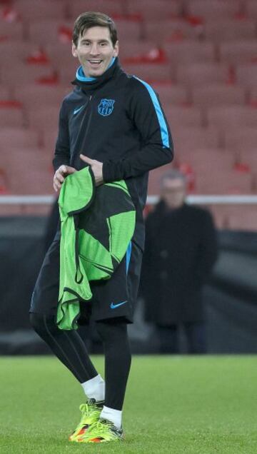
<svg viewBox="0 0 257 454"><path fill-rule="evenodd" d="M77 46L72 44L72 54L79 59L86 77L98 77L111 63L111 59L119 54L119 43L111 42L107 27L91 27L79 36Z"/></svg>

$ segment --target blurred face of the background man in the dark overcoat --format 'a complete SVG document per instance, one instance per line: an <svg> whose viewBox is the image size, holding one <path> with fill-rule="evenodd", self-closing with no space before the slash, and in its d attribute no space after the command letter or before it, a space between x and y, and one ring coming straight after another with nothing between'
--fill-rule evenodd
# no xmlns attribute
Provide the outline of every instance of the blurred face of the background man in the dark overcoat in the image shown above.
<svg viewBox="0 0 257 454"><path fill-rule="evenodd" d="M186 197L186 186L183 180L181 178L165 178L161 197L169 208L182 206Z"/></svg>

